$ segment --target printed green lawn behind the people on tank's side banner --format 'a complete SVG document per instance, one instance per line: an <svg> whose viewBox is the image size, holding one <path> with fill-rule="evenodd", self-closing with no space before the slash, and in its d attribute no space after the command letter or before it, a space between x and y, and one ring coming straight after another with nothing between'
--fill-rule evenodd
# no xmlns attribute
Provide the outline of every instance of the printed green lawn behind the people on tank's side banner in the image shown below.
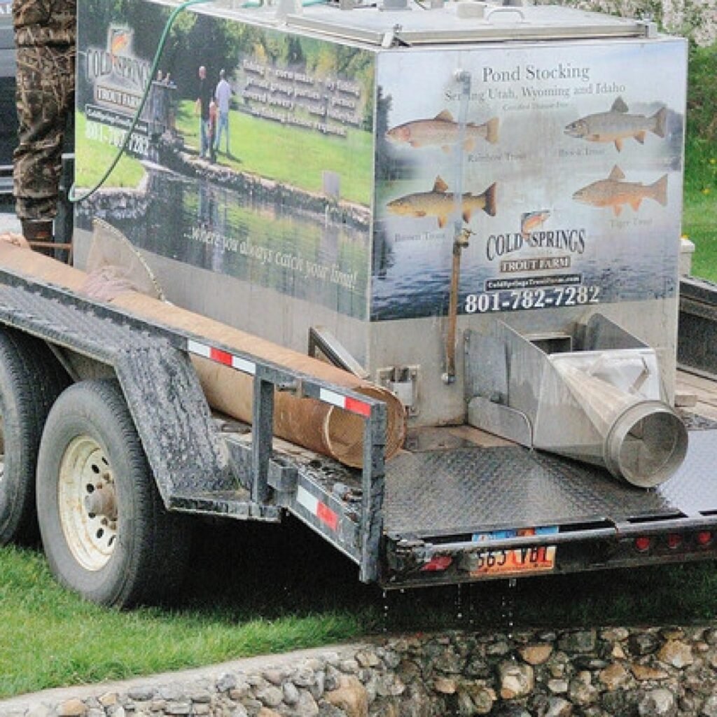
<svg viewBox="0 0 717 717"><path fill-rule="evenodd" d="M194 103L181 103L177 129L185 143L199 146L199 120ZM371 133L349 129L346 138L323 136L232 110L229 113L232 156L217 161L236 171L260 174L307 191L321 191L324 170L341 176L341 196L368 206L374 166ZM224 151L224 136L222 146Z"/></svg>

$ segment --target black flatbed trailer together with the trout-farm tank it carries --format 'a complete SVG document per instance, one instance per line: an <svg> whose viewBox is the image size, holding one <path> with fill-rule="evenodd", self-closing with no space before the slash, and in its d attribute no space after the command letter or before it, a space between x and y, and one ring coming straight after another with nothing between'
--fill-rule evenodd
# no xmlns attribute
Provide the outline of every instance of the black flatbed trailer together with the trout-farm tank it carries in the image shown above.
<svg viewBox="0 0 717 717"><path fill-rule="evenodd" d="M171 593L199 516L291 514L386 588L714 559L686 43L528 2L237 5L78 2L73 267L0 247L0 542L39 527L120 606ZM102 145L127 172L87 191ZM90 298L98 266L150 296Z"/></svg>

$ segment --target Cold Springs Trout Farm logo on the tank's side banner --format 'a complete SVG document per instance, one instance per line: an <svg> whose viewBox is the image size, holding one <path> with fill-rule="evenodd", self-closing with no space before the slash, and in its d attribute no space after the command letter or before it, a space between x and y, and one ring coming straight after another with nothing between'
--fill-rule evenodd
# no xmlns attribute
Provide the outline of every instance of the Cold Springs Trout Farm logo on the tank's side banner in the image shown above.
<svg viewBox="0 0 717 717"><path fill-rule="evenodd" d="M98 105L125 112L140 105L151 65L134 54L133 42L132 29L110 26L106 47L87 48L87 80Z"/></svg>

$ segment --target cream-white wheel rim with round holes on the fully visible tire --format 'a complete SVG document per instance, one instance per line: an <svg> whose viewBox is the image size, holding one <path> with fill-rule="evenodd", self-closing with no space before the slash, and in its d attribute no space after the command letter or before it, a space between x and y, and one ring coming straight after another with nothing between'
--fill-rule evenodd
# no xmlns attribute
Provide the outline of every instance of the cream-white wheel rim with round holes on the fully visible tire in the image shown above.
<svg viewBox="0 0 717 717"><path fill-rule="evenodd" d="M100 444L79 436L60 462L57 487L60 523L75 560L87 570L100 570L117 544L117 500L110 463Z"/></svg>

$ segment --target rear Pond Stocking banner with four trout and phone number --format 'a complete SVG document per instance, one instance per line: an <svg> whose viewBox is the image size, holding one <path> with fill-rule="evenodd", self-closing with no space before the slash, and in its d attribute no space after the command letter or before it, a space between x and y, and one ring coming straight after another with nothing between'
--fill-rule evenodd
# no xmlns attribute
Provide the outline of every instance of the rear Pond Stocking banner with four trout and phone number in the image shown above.
<svg viewBox="0 0 717 717"><path fill-rule="evenodd" d="M371 319L652 300L677 284L686 49L387 52Z"/></svg>

